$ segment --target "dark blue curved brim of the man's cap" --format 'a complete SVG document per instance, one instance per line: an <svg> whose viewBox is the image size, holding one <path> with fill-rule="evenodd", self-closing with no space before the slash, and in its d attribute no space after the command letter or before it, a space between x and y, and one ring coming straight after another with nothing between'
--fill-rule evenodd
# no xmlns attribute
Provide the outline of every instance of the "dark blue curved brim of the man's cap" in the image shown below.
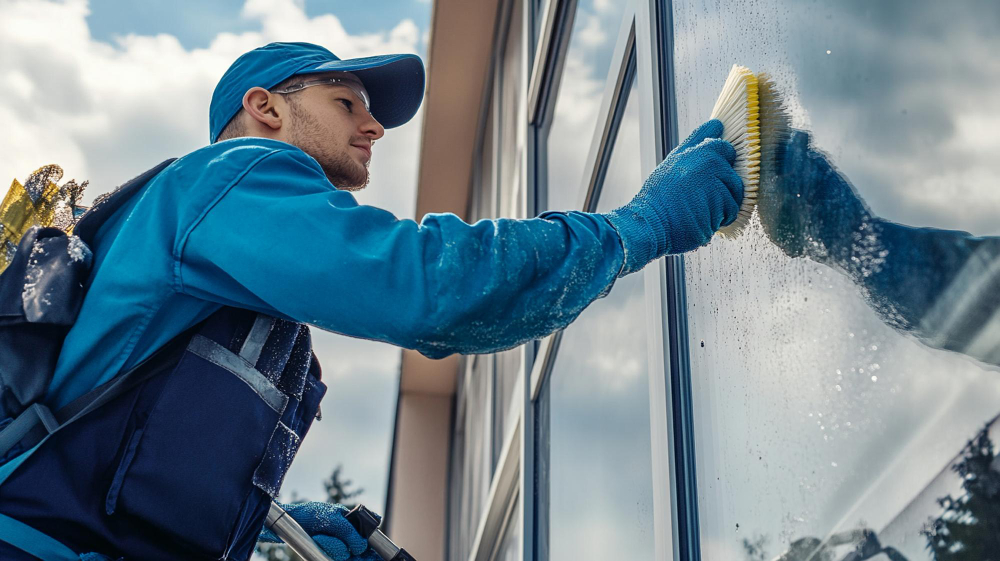
<svg viewBox="0 0 1000 561"><path fill-rule="evenodd" d="M385 128L398 127L417 113L424 98L424 65L417 55L379 55L334 60L295 73L351 72L371 99L371 113Z"/></svg>

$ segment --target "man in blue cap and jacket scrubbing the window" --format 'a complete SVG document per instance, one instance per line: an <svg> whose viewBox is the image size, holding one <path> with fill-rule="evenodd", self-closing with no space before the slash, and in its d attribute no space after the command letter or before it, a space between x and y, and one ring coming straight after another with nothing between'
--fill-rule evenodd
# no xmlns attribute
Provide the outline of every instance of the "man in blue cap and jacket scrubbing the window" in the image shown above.
<svg viewBox="0 0 1000 561"><path fill-rule="evenodd" d="M52 558L246 559L324 390L301 324L435 358L511 348L737 215L718 121L607 214L469 225L358 205L348 191L366 185L373 143L413 116L423 82L415 56L341 61L306 43L230 67L212 144L106 203L120 208L96 231L47 405L157 375L0 466L0 539L37 551L48 538ZM374 558L341 507L290 514L337 561Z"/></svg>

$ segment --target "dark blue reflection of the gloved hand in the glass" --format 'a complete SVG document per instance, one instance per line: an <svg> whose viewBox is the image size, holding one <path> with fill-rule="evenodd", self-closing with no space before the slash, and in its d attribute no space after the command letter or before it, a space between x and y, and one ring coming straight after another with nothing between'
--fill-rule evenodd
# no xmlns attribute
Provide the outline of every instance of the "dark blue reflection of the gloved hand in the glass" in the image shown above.
<svg viewBox="0 0 1000 561"><path fill-rule="evenodd" d="M761 224L791 257L846 264L875 216L807 132L793 131L779 149L776 181L761 189Z"/></svg>

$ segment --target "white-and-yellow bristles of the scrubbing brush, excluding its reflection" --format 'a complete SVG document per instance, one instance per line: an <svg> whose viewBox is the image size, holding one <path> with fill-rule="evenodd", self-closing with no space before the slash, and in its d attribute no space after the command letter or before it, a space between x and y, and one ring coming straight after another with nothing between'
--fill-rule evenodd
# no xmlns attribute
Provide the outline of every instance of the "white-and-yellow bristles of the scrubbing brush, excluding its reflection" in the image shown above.
<svg viewBox="0 0 1000 561"><path fill-rule="evenodd" d="M760 188L760 99L757 76L749 68L733 65L711 118L722 121L722 138L736 149L733 169L743 179L739 216L719 230L725 237L735 237L753 216Z"/></svg>

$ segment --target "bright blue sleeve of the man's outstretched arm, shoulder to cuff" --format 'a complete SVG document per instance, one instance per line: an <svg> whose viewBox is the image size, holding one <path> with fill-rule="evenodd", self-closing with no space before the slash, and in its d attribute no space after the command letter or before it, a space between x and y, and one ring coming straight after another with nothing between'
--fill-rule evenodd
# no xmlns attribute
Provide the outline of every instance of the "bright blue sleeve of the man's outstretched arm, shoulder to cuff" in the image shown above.
<svg viewBox="0 0 1000 561"><path fill-rule="evenodd" d="M607 294L624 257L598 214L400 220L295 151L260 160L177 243L184 293L432 358L565 327Z"/></svg>

